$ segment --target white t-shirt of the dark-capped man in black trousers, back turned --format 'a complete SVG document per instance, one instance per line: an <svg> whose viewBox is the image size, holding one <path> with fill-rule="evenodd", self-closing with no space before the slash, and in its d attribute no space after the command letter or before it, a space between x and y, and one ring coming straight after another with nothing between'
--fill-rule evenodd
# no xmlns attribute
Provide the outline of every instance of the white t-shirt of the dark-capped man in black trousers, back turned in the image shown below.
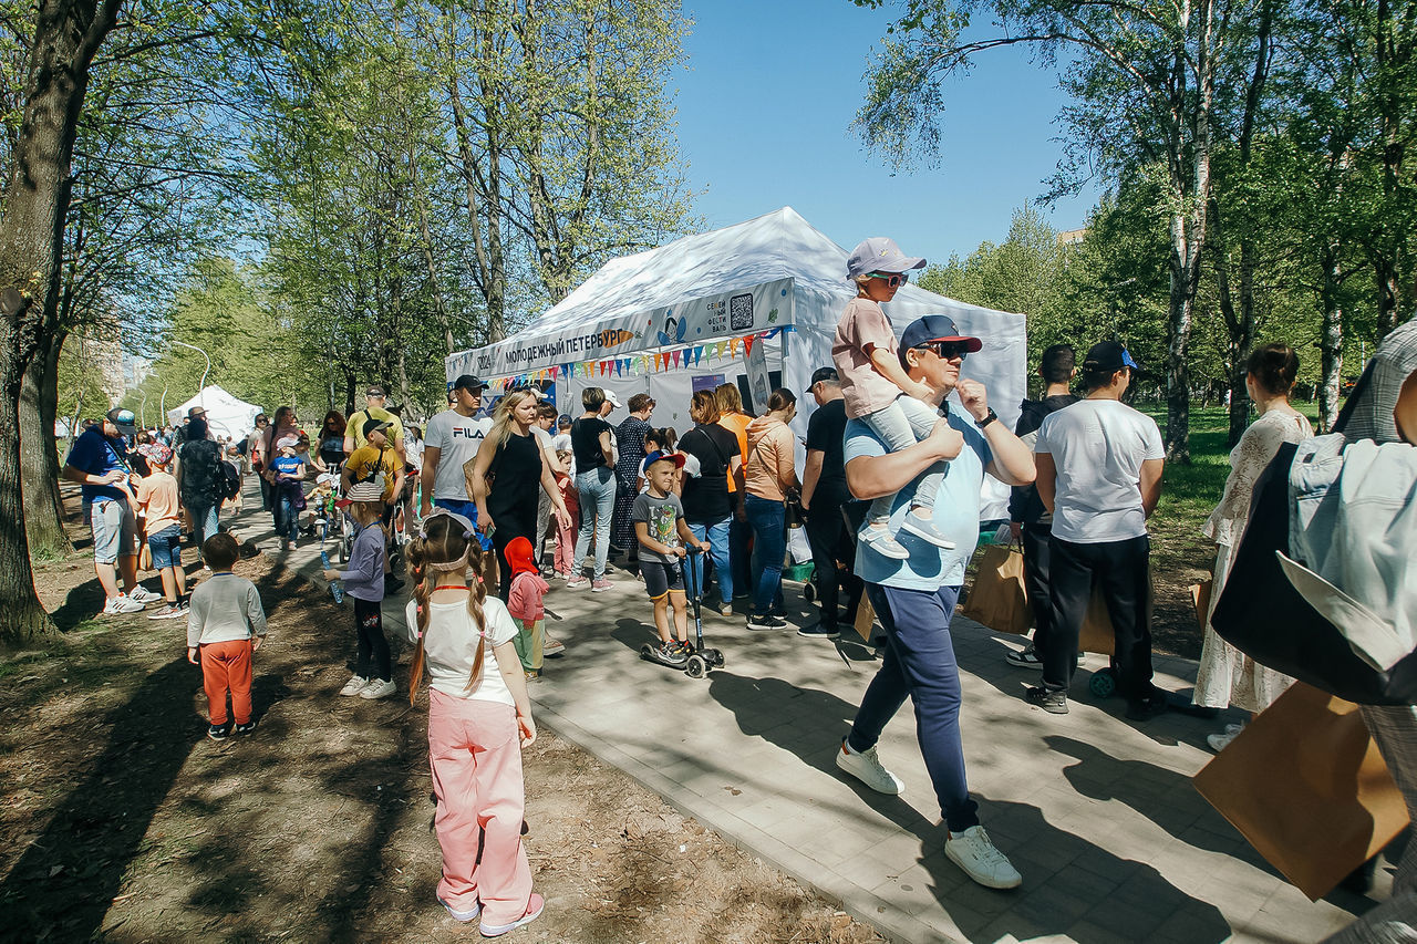
<svg viewBox="0 0 1417 944"><path fill-rule="evenodd" d="M1117 400L1080 400L1044 417L1033 451L1057 466L1058 539L1101 544L1146 533L1142 462L1166 456L1155 420Z"/></svg>

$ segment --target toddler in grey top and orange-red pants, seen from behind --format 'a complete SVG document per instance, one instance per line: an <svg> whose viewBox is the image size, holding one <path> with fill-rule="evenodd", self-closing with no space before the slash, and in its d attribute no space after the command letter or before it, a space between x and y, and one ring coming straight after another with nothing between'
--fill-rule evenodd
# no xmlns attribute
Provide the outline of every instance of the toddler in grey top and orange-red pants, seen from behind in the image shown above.
<svg viewBox="0 0 1417 944"><path fill-rule="evenodd" d="M251 714L251 653L265 641L266 622L255 584L231 573L241 557L237 540L225 532L214 534L203 541L201 556L213 574L191 591L187 662L198 665L201 655L201 683L210 716L207 737L220 741L228 734L256 730ZM235 727L227 719L228 692Z"/></svg>

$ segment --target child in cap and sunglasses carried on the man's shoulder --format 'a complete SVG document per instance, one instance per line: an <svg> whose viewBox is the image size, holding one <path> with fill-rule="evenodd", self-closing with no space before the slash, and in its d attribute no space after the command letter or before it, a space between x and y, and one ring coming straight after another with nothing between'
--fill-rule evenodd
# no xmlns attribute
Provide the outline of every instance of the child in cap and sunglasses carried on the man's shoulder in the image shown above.
<svg viewBox="0 0 1417 944"><path fill-rule="evenodd" d="M862 420L891 452L900 452L930 437L939 412L924 403L931 390L914 381L901 367L896 344L896 330L881 309L883 302L910 281L908 271L924 268L925 259L907 257L894 240L871 237L852 251L846 262L847 276L856 283L856 298L846 305L832 340L832 361L842 378L846 415ZM948 466L938 462L915 479L910 512L900 530L908 532L937 547L951 549L954 543L935 530L935 492ZM871 502L860 539L877 553L905 560L910 551L890 533L890 512L894 495L883 495Z"/></svg>

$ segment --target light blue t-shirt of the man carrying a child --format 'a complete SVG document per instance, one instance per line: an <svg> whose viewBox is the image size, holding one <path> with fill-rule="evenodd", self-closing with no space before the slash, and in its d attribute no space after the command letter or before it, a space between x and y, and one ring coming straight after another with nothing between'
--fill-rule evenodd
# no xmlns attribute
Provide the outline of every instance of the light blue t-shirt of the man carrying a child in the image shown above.
<svg viewBox="0 0 1417 944"><path fill-rule="evenodd" d="M955 543L952 550L935 547L910 532L901 532L901 519L910 513L908 486L896 493L891 505L890 530L905 550L908 560L894 560L876 553L866 541L856 541L856 575L870 584L898 587L901 590L924 590L934 592L941 587L959 587L965 583L965 566L979 543L979 489L983 485L983 471L993 461L993 452L983 432L973 420L955 404L949 404L949 425L958 429L965 445L959 455L949 461L949 473L935 493L935 530ZM890 449L870 427L860 420L846 424L845 459L879 456Z"/></svg>

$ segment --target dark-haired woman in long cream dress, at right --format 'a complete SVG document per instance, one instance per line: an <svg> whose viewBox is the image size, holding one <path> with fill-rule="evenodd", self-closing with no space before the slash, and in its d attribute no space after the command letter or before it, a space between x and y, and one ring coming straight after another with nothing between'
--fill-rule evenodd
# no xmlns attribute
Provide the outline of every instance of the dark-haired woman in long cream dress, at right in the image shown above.
<svg viewBox="0 0 1417 944"><path fill-rule="evenodd" d="M1289 390L1298 371L1299 359L1288 344L1264 344L1255 349L1246 367L1246 390L1260 415L1230 452L1230 478L1226 479L1224 498L1210 513L1204 527L1206 536L1216 541L1216 575L1210 588L1206 639L1192 696L1192 700L1203 707L1237 707L1258 713L1294 682L1287 675L1255 663L1216 635L1210 626L1210 612L1214 611L1220 590L1226 585L1234 549L1244 536L1255 479L1282 444L1299 442L1314 435L1308 418L1289 405ZM1240 727L1231 724L1206 740L1212 748L1223 750L1240 733Z"/></svg>

